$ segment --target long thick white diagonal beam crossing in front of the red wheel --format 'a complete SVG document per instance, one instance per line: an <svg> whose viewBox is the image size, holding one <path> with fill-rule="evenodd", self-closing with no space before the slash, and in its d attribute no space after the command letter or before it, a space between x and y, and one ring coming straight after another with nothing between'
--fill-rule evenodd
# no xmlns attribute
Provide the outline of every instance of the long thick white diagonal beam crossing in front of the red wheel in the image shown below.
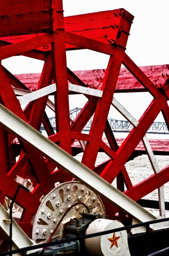
<svg viewBox="0 0 169 256"><path fill-rule="evenodd" d="M85 183L97 194L114 204L140 222L157 219L150 212L135 203L114 186L110 185L85 165L70 156L59 146L45 138L32 126L18 118L0 104L0 125L10 133L16 135L25 143L31 145L47 159L57 164L77 180Z"/></svg>

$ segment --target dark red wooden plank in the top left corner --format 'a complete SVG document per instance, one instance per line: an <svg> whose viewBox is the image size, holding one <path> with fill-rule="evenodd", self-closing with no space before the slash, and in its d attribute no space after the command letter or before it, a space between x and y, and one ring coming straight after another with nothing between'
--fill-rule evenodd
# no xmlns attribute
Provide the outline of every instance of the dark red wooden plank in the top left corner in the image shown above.
<svg viewBox="0 0 169 256"><path fill-rule="evenodd" d="M49 1L1 1L0 26L0 36L50 31Z"/></svg>

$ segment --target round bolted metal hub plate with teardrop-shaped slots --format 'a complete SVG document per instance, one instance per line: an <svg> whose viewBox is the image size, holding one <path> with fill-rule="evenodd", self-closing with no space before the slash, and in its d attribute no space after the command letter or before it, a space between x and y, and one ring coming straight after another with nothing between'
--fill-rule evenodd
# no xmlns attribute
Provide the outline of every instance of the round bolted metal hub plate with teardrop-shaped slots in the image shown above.
<svg viewBox="0 0 169 256"><path fill-rule="evenodd" d="M59 184L42 200L34 216L32 239L36 243L43 243L49 239L65 211L75 203L83 202L92 213L96 212L105 218L105 209L100 197L77 181ZM70 221L70 218L82 217L79 214L82 211L87 211L87 209L80 204L70 209L53 238L62 239L64 225Z"/></svg>

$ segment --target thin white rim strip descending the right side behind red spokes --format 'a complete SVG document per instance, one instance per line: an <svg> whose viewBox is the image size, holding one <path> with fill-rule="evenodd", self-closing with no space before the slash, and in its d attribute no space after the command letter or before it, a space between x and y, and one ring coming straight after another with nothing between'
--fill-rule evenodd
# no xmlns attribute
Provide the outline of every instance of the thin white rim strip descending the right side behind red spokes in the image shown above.
<svg viewBox="0 0 169 256"><path fill-rule="evenodd" d="M138 121L120 104L118 100L115 98L112 99L111 103L134 127L138 125ZM150 160L151 166L154 170L154 173L157 174L160 172L159 166L155 159L154 153L152 151L151 145L147 138L147 135L142 139L143 144L145 146L145 150L147 152L148 158ZM158 200L159 200L159 212L160 216L165 217L165 200L164 200L164 187L158 188Z"/></svg>

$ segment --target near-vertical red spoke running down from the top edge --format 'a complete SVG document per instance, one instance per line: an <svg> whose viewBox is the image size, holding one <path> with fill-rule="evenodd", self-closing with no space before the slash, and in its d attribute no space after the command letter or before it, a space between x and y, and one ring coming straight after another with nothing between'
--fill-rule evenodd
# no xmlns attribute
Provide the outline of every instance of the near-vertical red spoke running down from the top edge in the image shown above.
<svg viewBox="0 0 169 256"><path fill-rule="evenodd" d="M52 14L53 20L53 60L55 82L57 83L57 93L55 93L56 119L58 119L58 132L60 133L59 145L71 154L70 138L70 117L69 117L69 98L68 81L66 65L66 48L63 4L61 0L52 1L52 8L55 10Z"/></svg>

